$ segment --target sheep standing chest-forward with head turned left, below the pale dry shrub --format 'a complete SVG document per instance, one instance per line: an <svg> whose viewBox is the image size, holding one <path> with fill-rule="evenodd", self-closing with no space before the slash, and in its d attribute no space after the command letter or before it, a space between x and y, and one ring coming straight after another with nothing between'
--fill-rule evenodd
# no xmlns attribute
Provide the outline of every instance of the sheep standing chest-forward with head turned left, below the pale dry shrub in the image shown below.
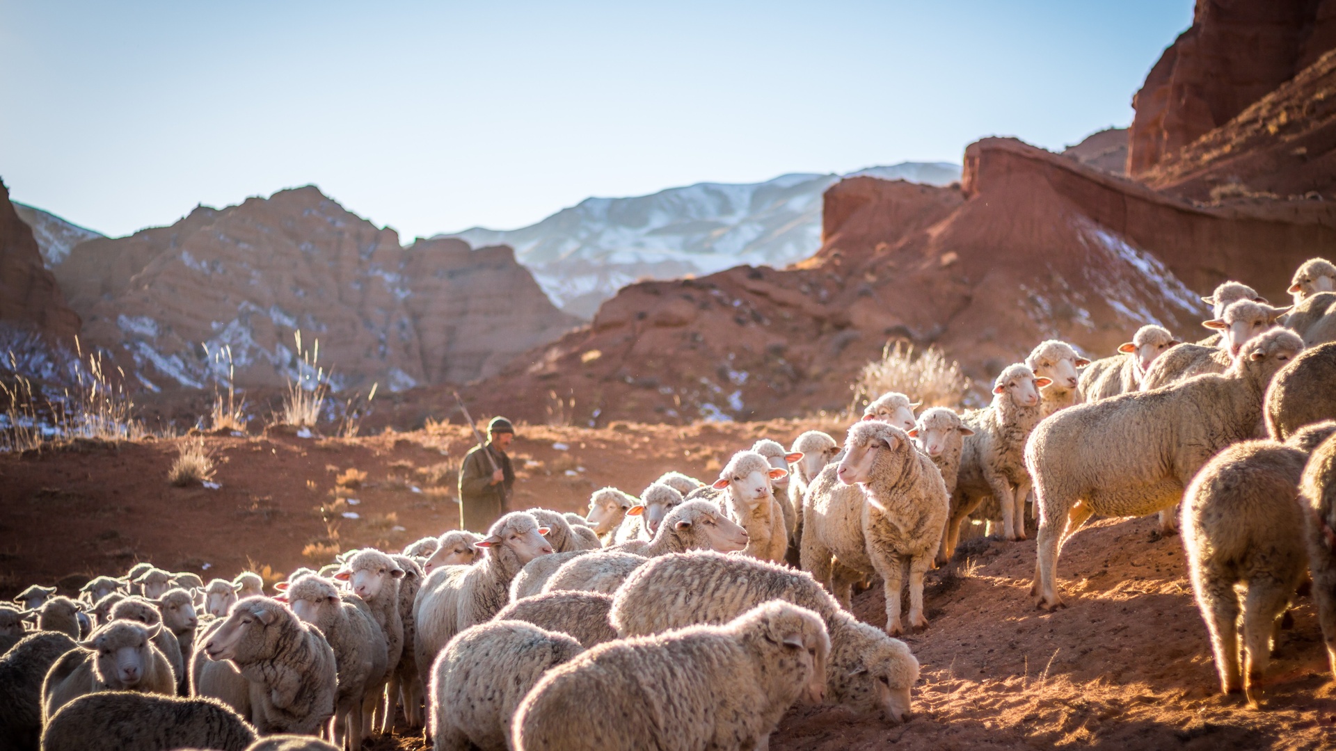
<svg viewBox="0 0 1336 751"><path fill-rule="evenodd" d="M832 493L858 485L862 493ZM859 422L844 440L844 458L816 477L804 508L803 568L831 581L832 557L847 569L882 576L886 632L902 633L900 583L910 572L910 628L923 628L923 575L942 544L950 512L946 482L908 434L884 422ZM811 513L808 513L811 512ZM838 596L848 596L847 589ZM844 604L843 601L840 604Z"/></svg>

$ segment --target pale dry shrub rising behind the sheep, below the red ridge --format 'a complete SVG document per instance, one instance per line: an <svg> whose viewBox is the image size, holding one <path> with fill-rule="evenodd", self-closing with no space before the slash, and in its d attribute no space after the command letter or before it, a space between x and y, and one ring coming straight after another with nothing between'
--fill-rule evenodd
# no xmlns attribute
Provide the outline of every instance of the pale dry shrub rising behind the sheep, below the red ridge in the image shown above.
<svg viewBox="0 0 1336 751"><path fill-rule="evenodd" d="M859 413L871 400L899 392L923 406L959 409L970 390L970 380L961 373L961 363L947 361L937 346L914 357L914 345L887 342L882 358L863 366L854 389L851 413Z"/></svg>

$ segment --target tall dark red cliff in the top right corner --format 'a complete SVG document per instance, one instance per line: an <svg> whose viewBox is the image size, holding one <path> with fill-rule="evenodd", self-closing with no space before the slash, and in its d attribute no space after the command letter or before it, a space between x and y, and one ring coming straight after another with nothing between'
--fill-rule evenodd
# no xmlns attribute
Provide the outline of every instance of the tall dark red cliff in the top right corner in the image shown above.
<svg viewBox="0 0 1336 751"><path fill-rule="evenodd" d="M1128 171L1160 164L1333 47L1336 0L1197 0L1132 100Z"/></svg>

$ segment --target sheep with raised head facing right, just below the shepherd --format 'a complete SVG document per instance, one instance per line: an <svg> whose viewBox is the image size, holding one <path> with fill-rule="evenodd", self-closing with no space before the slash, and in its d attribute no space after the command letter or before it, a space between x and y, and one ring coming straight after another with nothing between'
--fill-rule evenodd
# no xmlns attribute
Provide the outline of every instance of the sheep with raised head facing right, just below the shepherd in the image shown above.
<svg viewBox="0 0 1336 751"><path fill-rule="evenodd" d="M533 514L510 512L478 540L481 561L442 567L426 577L413 605L418 675L432 675L432 663L456 633L490 619L506 605L510 580L524 564L552 553L542 537L546 532Z"/></svg>

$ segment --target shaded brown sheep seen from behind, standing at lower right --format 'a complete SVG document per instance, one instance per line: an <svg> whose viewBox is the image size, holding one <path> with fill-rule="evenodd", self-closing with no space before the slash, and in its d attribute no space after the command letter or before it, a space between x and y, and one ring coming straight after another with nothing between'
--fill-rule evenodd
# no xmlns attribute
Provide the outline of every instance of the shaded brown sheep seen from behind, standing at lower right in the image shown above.
<svg viewBox="0 0 1336 751"><path fill-rule="evenodd" d="M1245 691L1260 703L1272 632L1303 579L1307 553L1296 502L1308 454L1275 441L1245 441L1216 454L1184 494L1182 535L1188 573L1221 691ZM1236 620L1242 584L1245 678L1238 669Z"/></svg>

